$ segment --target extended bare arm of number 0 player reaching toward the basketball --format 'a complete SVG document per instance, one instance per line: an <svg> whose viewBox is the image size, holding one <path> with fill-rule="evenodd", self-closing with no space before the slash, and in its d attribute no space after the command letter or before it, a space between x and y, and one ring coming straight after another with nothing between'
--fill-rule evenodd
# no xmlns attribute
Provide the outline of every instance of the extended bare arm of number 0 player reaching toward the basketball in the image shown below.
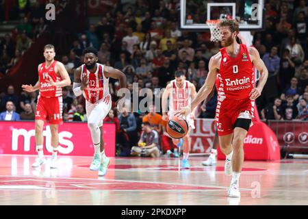
<svg viewBox="0 0 308 219"><path fill-rule="evenodd" d="M214 87L216 77L217 77L217 68L218 66L218 59L216 55L211 57L211 60L209 60L209 74L207 75L207 79L205 80L205 83L200 88L198 93L196 94L196 97L192 101L191 105L184 107L182 110L177 112L175 116L187 116L194 110L194 108L199 105L204 99L207 98L207 96L211 93L211 90Z"/></svg>

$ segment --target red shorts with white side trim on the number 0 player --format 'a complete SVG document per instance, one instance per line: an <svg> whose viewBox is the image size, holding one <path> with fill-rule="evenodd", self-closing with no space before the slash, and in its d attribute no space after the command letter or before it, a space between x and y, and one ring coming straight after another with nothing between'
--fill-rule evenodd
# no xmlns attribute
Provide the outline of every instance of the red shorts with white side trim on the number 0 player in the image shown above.
<svg viewBox="0 0 308 219"><path fill-rule="evenodd" d="M233 133L238 118L252 119L254 105L255 101L251 99L232 100L218 97L215 116L218 135L226 136Z"/></svg>

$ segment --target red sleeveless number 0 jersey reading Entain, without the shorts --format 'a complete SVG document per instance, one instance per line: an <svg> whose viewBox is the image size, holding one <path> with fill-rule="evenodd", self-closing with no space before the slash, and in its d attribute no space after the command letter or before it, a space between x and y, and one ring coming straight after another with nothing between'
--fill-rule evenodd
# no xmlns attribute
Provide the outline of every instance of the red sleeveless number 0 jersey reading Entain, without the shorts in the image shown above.
<svg viewBox="0 0 308 219"><path fill-rule="evenodd" d="M227 99L247 99L255 86L255 75L246 45L240 44L240 53L234 58L228 55L225 47L220 53L218 95Z"/></svg>

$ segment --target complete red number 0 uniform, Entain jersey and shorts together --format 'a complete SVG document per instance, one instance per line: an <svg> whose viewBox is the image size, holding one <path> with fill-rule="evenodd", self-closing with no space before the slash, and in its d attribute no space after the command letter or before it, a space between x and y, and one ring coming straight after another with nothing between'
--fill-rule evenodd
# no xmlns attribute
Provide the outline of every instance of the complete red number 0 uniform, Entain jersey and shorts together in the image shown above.
<svg viewBox="0 0 308 219"><path fill-rule="evenodd" d="M234 58L227 54L225 47L220 53L215 120L218 134L224 136L233 132L238 118L253 118L255 101L248 95L255 87L255 75L245 44L240 44L240 52Z"/></svg>

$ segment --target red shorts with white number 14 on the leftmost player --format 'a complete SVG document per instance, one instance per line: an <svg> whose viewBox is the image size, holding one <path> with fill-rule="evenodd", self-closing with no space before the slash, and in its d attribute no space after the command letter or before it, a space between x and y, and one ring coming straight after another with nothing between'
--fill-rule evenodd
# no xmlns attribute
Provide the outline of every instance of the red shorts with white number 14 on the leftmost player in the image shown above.
<svg viewBox="0 0 308 219"><path fill-rule="evenodd" d="M49 120L50 124L62 123L63 101L62 96L44 97L39 96L36 105L36 120Z"/></svg>

